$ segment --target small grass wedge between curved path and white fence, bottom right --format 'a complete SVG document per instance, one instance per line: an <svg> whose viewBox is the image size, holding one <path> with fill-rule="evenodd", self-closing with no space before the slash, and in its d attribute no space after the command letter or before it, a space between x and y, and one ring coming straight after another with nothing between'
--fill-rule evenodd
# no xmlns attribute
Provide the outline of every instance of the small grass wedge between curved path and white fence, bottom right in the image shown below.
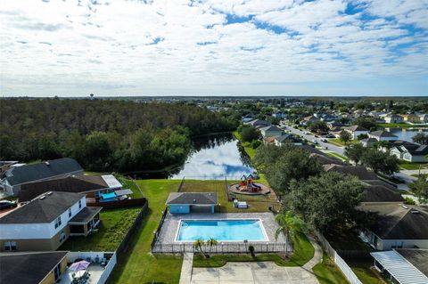
<svg viewBox="0 0 428 284"><path fill-rule="evenodd" d="M315 265L312 271L315 273L315 276L317 276L317 280L320 284L349 283L336 264L334 264L333 260L325 254L323 256L323 262Z"/></svg>

